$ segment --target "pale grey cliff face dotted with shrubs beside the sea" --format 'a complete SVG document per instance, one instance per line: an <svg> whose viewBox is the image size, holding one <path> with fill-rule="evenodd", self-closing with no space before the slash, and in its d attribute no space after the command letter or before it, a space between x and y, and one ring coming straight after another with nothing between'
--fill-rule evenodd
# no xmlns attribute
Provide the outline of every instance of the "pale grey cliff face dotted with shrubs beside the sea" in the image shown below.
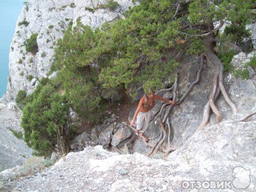
<svg viewBox="0 0 256 192"><path fill-rule="evenodd" d="M10 45L10 81L1 101L10 102L15 99L19 90L31 93L38 79L50 75L47 73L54 61L53 54L57 39L63 36L70 22L75 25L79 19L83 25L90 25L95 29L103 22L113 22L117 18L122 18L123 11L133 6L131 0L118 0L119 6L115 10L95 9L92 12L89 9L107 2L107 0L27 1L18 17ZM38 34L38 52L35 55L28 53L24 45L26 39L29 39L32 34Z"/></svg>

